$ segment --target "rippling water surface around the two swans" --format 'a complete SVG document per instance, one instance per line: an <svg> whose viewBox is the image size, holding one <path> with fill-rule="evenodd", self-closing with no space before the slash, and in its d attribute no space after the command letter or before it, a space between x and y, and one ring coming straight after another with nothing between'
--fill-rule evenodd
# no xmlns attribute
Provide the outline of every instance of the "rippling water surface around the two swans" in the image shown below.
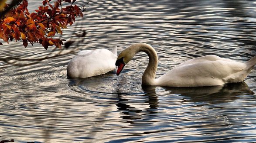
<svg viewBox="0 0 256 143"><path fill-rule="evenodd" d="M85 2L78 0L78 5ZM29 0L31 9L40 1ZM0 47L0 140L16 142L256 142L256 68L245 82L217 87L142 87L147 55L115 71L68 79L83 49L136 42L159 56L157 77L190 58L239 62L256 55L253 0L94 0L65 29L69 49L20 42ZM85 38L75 33L86 30Z"/></svg>

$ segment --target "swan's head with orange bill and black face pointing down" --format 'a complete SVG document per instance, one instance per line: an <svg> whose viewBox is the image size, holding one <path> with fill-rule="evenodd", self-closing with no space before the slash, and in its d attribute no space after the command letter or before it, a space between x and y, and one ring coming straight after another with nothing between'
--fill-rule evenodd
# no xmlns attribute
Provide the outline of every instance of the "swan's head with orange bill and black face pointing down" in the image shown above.
<svg viewBox="0 0 256 143"><path fill-rule="evenodd" d="M116 66L118 66L116 75L119 75L121 71L123 70L123 67L130 62L130 60L133 58L133 56L136 54L135 50L130 46L129 48L126 48L121 52L116 60Z"/></svg>

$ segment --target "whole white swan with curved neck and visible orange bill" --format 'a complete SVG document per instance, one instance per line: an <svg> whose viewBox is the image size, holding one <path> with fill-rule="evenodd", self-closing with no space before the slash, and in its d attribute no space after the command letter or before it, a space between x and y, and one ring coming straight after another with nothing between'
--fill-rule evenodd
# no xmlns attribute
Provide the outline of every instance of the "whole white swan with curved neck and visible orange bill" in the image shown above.
<svg viewBox="0 0 256 143"><path fill-rule="evenodd" d="M177 65L171 71L155 79L157 71L157 53L148 44L137 43L121 52L116 60L119 75L123 67L137 52L146 52L149 64L142 75L142 84L169 87L215 86L243 81L256 64L256 56L246 63L206 55L190 59Z"/></svg>

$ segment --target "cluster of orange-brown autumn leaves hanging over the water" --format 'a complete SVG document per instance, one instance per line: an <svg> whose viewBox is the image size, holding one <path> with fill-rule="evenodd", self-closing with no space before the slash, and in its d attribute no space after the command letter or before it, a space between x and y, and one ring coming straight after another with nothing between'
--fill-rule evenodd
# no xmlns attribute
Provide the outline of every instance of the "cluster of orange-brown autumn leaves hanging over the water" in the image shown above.
<svg viewBox="0 0 256 143"><path fill-rule="evenodd" d="M39 42L44 49L55 45L61 49L64 39L55 39L56 34L62 34L62 30L71 26L75 22L75 17L83 16L86 8L85 4L79 8L75 5L76 0L57 0L50 3L51 0L43 0L42 6L38 7L33 13L27 10L27 0L22 0L16 7L12 7L2 19L0 19L0 39L9 43L14 39L22 41L27 47L28 42L33 45ZM62 8L62 2L70 3ZM10 8L6 5L4 9ZM2 43L0 42L0 45Z"/></svg>

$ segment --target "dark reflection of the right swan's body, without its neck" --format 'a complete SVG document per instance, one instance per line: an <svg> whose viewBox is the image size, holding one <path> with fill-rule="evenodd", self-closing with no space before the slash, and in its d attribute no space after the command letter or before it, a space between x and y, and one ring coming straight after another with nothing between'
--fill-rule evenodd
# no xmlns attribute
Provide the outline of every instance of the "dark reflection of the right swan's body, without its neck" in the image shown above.
<svg viewBox="0 0 256 143"><path fill-rule="evenodd" d="M172 88L163 87L170 94L190 97L183 101L225 103L238 99L238 95L254 94L245 82L225 84L222 86Z"/></svg>

